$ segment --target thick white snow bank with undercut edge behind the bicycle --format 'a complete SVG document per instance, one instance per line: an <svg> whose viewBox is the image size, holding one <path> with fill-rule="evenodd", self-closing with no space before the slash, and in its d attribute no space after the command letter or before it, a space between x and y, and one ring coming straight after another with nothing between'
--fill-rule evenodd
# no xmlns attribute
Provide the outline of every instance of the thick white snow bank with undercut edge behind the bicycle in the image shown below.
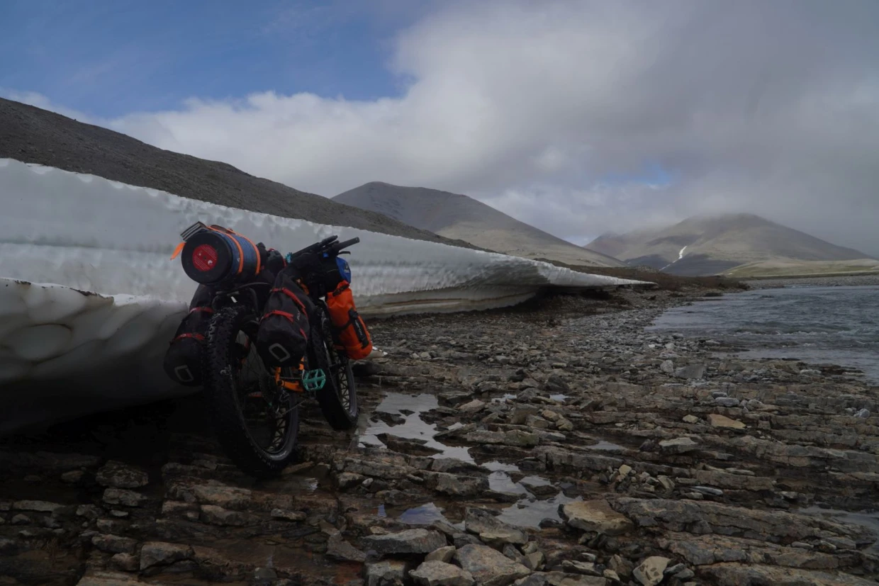
<svg viewBox="0 0 879 586"><path fill-rule="evenodd" d="M52 392L103 401L85 402L84 412L109 406L108 397L115 405L185 392L164 378L161 357L195 290L179 259L170 260L180 231L195 221L285 252L328 235L359 236L348 260L367 316L503 307L547 286L637 283L217 206L13 159L0 159L0 204L0 410L7 419L0 431L54 409L42 402L40 414L22 412L16 389L25 383L63 380Z"/></svg>

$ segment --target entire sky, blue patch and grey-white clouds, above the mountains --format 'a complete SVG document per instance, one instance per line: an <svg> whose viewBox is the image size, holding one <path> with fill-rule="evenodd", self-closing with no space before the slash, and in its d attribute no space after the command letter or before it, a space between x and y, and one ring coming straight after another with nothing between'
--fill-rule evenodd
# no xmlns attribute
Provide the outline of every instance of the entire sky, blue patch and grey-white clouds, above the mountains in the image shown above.
<svg viewBox="0 0 879 586"><path fill-rule="evenodd" d="M585 243L759 213L879 256L879 2L4 0L0 96Z"/></svg>

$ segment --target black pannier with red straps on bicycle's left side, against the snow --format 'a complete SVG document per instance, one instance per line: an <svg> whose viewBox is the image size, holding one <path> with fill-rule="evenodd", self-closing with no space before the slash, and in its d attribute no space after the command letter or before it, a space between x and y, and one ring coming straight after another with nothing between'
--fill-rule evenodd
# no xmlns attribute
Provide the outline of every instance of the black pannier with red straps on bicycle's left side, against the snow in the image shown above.
<svg viewBox="0 0 879 586"><path fill-rule="evenodd" d="M189 303L189 313L181 320L177 332L165 351L163 368L171 380L185 387L200 387L201 355L204 351L207 325L214 315L211 309L213 291L200 285Z"/></svg>

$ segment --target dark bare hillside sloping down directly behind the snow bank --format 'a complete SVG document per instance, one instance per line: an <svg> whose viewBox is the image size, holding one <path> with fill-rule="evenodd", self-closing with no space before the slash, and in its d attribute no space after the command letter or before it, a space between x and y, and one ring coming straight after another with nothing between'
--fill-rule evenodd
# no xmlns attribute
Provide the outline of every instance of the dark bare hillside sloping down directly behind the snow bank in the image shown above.
<svg viewBox="0 0 879 586"><path fill-rule="evenodd" d="M254 177L227 163L152 147L126 134L4 98L0 158L89 173L222 206L475 248L381 213Z"/></svg>

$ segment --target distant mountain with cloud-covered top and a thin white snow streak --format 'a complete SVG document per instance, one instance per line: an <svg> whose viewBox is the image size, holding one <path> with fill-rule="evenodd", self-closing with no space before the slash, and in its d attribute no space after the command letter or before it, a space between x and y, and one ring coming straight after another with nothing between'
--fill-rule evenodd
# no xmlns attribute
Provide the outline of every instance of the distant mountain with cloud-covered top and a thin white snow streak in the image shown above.
<svg viewBox="0 0 879 586"><path fill-rule="evenodd" d="M694 216L669 228L601 235L585 248L628 264L689 276L718 274L743 264L782 263L791 270L791 264L803 261L833 263L869 258L858 250L752 213Z"/></svg>

